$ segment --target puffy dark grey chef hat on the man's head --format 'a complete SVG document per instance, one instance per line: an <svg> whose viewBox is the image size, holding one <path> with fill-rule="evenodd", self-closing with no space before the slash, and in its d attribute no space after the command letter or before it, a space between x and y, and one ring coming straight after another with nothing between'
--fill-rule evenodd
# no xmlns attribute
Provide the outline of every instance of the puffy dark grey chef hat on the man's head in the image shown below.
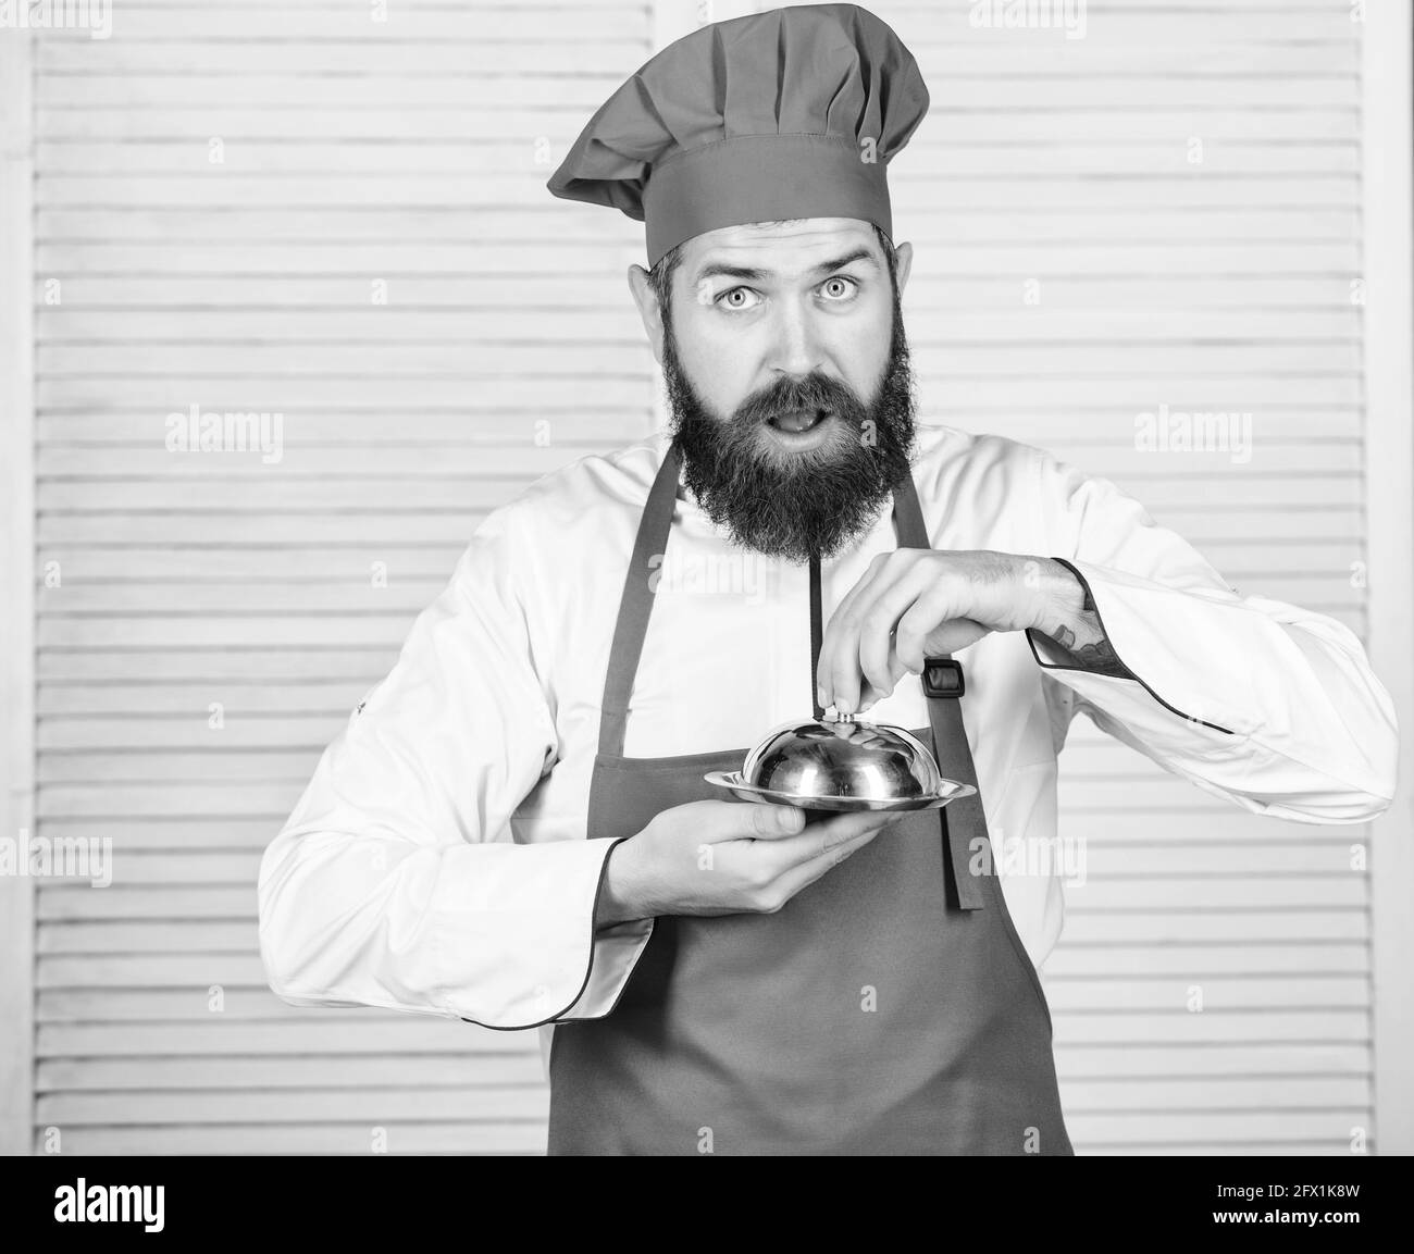
<svg viewBox="0 0 1414 1254"><path fill-rule="evenodd" d="M855 4L775 8L669 44L550 178L646 223L649 264L742 222L860 218L892 238L885 165L928 112L913 54Z"/></svg>

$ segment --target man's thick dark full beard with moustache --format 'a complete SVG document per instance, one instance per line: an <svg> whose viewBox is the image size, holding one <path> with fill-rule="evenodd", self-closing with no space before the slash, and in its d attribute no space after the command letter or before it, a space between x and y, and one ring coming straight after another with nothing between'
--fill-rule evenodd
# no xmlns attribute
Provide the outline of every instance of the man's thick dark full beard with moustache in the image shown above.
<svg viewBox="0 0 1414 1254"><path fill-rule="evenodd" d="M868 530L911 474L913 379L895 298L889 361L872 403L848 385L813 373L782 379L721 420L710 414L663 338L663 377L683 484L732 543L792 563L829 558ZM822 414L819 447L782 447L776 416Z"/></svg>

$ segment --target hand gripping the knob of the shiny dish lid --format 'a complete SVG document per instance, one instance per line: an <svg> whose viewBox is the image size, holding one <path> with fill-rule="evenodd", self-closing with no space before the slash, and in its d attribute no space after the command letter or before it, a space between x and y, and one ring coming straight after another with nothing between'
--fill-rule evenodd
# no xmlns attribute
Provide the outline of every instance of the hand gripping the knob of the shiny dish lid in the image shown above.
<svg viewBox="0 0 1414 1254"><path fill-rule="evenodd" d="M953 653L988 632L1042 628L1076 614L1085 590L1049 557L987 549L881 553L830 616L816 670L822 708L867 710L925 657Z"/></svg>

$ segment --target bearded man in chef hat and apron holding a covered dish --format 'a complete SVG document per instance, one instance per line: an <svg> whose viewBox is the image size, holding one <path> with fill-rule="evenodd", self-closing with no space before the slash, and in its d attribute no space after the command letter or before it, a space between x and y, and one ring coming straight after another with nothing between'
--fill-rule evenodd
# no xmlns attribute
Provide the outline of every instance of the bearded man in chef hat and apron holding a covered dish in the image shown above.
<svg viewBox="0 0 1414 1254"><path fill-rule="evenodd" d="M926 109L894 31L824 4L694 31L594 115L550 191L645 223L670 421L477 529L262 862L274 991L539 1028L553 1154L1070 1154L1060 879L993 837L1053 840L1073 715L1256 813L1393 793L1343 626L918 421L885 175ZM913 731L964 795L707 779L807 713Z"/></svg>

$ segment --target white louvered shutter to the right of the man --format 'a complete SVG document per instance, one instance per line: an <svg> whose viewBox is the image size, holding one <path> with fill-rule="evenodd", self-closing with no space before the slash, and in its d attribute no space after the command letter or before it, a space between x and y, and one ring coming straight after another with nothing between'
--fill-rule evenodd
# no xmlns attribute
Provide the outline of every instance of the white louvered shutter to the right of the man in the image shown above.
<svg viewBox="0 0 1414 1254"><path fill-rule="evenodd" d="M1362 635L1350 6L1094 3L1073 41L973 8L875 6L932 92L891 180L925 410L1113 478L1239 591ZM1159 404L1251 413L1250 462L1138 451ZM1373 1117L1366 828L1247 816L1086 718L1060 807L1089 882L1044 980L1077 1149L1349 1154Z"/></svg>

